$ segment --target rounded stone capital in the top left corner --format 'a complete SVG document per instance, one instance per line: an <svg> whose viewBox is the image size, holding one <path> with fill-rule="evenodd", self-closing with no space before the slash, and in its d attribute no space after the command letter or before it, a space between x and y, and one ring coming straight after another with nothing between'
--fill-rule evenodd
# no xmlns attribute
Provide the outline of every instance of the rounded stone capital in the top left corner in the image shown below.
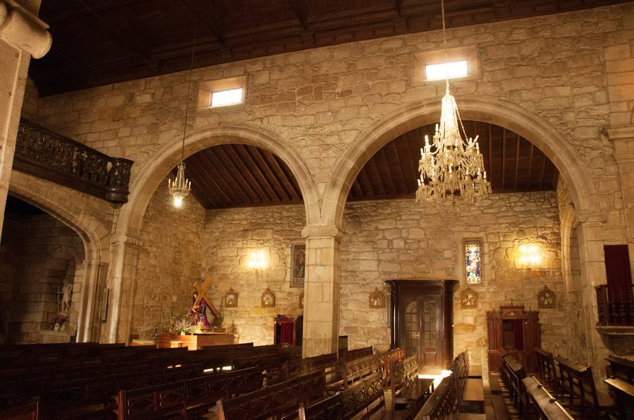
<svg viewBox="0 0 634 420"><path fill-rule="evenodd" d="M0 39L42 58L51 49L49 25L16 0L0 0Z"/></svg>

